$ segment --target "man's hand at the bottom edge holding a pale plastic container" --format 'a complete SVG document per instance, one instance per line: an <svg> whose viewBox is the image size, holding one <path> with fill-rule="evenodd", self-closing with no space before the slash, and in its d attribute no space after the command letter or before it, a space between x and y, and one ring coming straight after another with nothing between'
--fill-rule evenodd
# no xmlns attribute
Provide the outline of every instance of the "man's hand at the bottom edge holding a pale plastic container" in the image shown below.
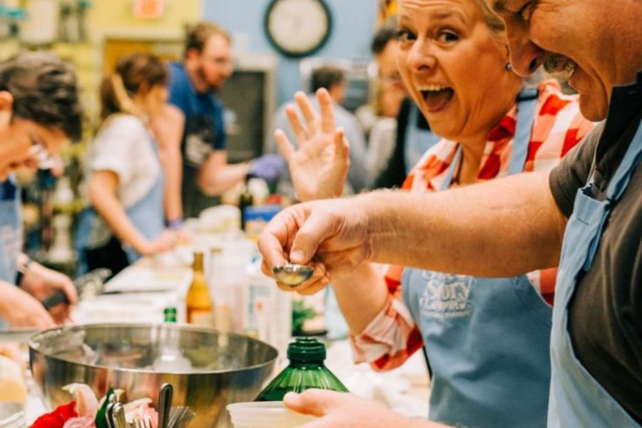
<svg viewBox="0 0 642 428"><path fill-rule="evenodd" d="M426 420L402 417L383 404L346 392L323 389L307 389L301 394L288 392L283 402L295 412L320 418L301 428L447 428Z"/></svg>

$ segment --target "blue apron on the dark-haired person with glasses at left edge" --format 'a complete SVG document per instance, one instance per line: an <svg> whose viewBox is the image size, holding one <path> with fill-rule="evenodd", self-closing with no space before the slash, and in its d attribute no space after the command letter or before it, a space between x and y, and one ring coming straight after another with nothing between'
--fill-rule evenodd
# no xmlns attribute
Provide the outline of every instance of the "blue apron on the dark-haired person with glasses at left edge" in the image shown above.
<svg viewBox="0 0 642 428"><path fill-rule="evenodd" d="M20 189L9 176L0 183L0 280L13 284L22 245Z"/></svg>

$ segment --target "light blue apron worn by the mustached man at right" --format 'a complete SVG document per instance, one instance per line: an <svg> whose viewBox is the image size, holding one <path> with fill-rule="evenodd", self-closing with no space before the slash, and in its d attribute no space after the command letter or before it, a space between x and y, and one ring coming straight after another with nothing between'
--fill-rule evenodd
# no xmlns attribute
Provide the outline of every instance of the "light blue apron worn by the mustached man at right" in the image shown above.
<svg viewBox="0 0 642 428"><path fill-rule="evenodd" d="M569 336L569 302L577 276L591 267L603 226L642 158L642 125L606 189L606 200L592 198L593 179L577 191L564 234L551 335L549 427L640 427L575 356ZM633 191L633 190L631 190Z"/></svg>

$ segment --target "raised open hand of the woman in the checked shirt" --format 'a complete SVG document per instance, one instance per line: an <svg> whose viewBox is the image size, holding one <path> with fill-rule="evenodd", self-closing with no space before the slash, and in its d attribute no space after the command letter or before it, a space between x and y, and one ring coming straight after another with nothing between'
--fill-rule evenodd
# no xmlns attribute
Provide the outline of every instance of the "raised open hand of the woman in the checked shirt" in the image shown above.
<svg viewBox="0 0 642 428"><path fill-rule="evenodd" d="M321 115L312 108L305 93L297 92L295 100L305 119L301 123L294 106L285 111L297 139L295 150L285 133L274 133L279 151L290 165L290 175L295 190L302 201L335 198L342 195L350 167L349 143L341 128L335 129L330 94L321 88L317 91Z"/></svg>

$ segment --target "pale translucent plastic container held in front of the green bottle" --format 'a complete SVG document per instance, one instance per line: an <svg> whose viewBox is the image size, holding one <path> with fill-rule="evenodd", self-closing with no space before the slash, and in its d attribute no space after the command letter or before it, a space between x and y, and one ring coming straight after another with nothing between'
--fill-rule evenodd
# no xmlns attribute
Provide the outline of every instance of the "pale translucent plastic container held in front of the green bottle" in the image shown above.
<svg viewBox="0 0 642 428"><path fill-rule="evenodd" d="M283 402L228 404L234 428L295 428L317 419L287 409Z"/></svg>

